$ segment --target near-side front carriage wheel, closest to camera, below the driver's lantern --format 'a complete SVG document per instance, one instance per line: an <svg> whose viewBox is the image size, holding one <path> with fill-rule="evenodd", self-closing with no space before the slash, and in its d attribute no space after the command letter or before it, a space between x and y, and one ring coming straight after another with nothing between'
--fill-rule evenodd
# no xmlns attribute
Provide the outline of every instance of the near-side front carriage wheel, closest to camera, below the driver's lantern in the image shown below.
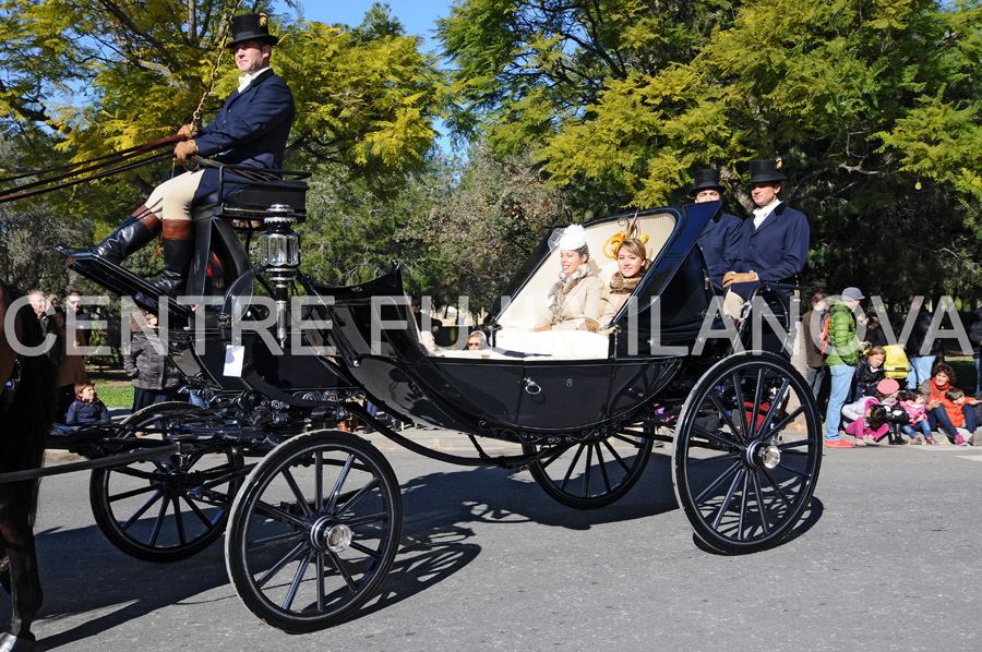
<svg viewBox="0 0 982 652"><path fill-rule="evenodd" d="M260 461L231 509L225 559L236 592L289 632L334 626L379 590L403 529L392 467L337 431L297 435Z"/></svg>

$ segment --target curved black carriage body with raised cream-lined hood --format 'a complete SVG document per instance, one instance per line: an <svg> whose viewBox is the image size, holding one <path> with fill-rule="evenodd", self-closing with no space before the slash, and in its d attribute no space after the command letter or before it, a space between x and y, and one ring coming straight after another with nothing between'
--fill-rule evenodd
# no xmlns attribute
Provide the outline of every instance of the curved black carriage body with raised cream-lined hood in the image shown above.
<svg viewBox="0 0 982 652"><path fill-rule="evenodd" d="M428 352L397 269L355 289L315 287L332 317L325 337L373 402L394 412L523 443L604 438L657 409L659 397L680 373L697 374L705 367L688 354L711 299L695 241L718 208L692 205L637 215L652 264L633 294L634 303L615 316L610 335L552 331L529 337L558 268L549 233L495 301L492 313L501 329L490 351ZM630 217L586 225L590 251L601 252L612 237L623 233ZM604 280L616 269L613 259L598 254L589 264ZM507 342L517 339L510 337L513 334L534 340L532 350L511 350ZM566 340L561 351L534 350L536 343L548 348L556 338ZM684 397L681 387L673 391Z"/></svg>

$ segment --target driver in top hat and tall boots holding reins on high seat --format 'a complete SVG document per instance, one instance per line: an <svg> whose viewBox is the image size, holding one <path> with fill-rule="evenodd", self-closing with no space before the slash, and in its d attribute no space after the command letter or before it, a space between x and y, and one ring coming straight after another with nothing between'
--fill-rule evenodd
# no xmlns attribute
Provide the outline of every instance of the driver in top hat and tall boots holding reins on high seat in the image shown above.
<svg viewBox="0 0 982 652"><path fill-rule="evenodd" d="M286 83L270 68L273 46L279 40L270 34L264 13L232 17L236 67L242 76L239 87L225 101L215 119L202 129L184 124L178 135L187 140L177 144L175 156L183 164L200 154L223 164L255 168L283 168L287 137L294 124L294 96ZM226 179L230 176L226 174ZM68 255L94 253L115 264L142 249L164 230L164 273L157 288L176 295L188 277L194 253L192 207L218 190L219 171L206 167L196 171L179 170L151 193L115 233L91 249L59 246ZM232 177L235 179L235 177ZM236 188L226 183L228 193Z"/></svg>

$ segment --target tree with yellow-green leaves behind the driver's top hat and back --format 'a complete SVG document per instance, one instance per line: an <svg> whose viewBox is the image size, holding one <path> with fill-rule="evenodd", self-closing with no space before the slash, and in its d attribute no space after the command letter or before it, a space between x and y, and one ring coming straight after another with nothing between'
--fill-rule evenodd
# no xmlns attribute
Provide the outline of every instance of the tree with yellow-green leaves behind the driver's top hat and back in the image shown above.
<svg viewBox="0 0 982 652"><path fill-rule="evenodd" d="M73 160L172 135L190 121L228 19L218 0L4 0L0 9L0 119L43 125ZM374 5L354 29L274 16L273 33L273 67L298 107L290 165L339 164L390 191L422 165L443 80L387 8ZM205 122L237 75L226 55ZM145 193L160 173L131 179ZM91 208L84 193L73 205L75 216ZM129 208L117 206L110 222Z"/></svg>

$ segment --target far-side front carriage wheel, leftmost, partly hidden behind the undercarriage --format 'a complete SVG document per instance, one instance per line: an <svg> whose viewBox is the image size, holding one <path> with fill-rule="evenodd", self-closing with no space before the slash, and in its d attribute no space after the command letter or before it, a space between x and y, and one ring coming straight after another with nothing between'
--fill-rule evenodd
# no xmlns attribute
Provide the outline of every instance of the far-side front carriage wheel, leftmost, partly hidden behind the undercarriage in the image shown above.
<svg viewBox="0 0 982 652"><path fill-rule="evenodd" d="M168 438L175 423L197 411L185 402L156 403L128 416L122 436ZM202 450L96 469L92 514L123 553L145 562L183 559L221 536L242 468L238 452Z"/></svg>

